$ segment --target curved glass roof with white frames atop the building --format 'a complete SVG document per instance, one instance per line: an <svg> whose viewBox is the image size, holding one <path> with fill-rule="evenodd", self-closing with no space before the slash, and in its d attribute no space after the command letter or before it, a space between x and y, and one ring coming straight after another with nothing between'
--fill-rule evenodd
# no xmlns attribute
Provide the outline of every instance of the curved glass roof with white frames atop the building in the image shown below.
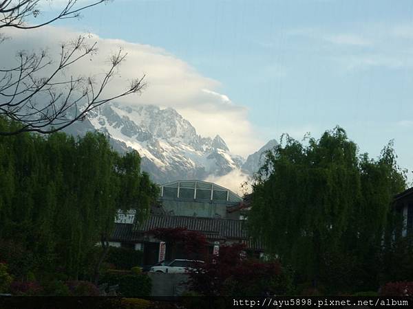
<svg viewBox="0 0 413 309"><path fill-rule="evenodd" d="M240 203L242 198L231 190L207 181L173 181L160 185L161 198Z"/></svg>

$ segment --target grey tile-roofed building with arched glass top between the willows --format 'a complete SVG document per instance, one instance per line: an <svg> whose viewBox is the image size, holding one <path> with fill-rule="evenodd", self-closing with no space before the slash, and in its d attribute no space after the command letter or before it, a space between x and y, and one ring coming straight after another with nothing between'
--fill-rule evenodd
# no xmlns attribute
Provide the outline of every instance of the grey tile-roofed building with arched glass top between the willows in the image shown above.
<svg viewBox="0 0 413 309"><path fill-rule="evenodd" d="M244 211L248 200L220 185L205 181L174 181L160 186L157 205L144 222L118 216L111 244L144 252L144 264L160 260L189 258L180 247L153 237L153 229L185 228L204 234L210 255L219 254L224 244L242 243L249 255L260 256L263 249L248 236Z"/></svg>

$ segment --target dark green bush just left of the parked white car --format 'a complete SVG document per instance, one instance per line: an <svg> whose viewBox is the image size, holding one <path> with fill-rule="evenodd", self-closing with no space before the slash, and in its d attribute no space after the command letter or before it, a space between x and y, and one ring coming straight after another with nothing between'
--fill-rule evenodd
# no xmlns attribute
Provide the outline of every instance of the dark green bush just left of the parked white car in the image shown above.
<svg viewBox="0 0 413 309"><path fill-rule="evenodd" d="M142 251L109 247L105 262L114 264L117 269L131 269L136 265L141 265L143 260Z"/></svg>

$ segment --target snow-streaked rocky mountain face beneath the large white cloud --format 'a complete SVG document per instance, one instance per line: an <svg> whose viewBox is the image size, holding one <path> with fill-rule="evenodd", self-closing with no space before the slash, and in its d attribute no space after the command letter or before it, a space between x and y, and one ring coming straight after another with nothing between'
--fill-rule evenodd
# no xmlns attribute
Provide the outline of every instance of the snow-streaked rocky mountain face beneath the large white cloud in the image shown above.
<svg viewBox="0 0 413 309"><path fill-rule="evenodd" d="M201 137L173 108L105 104L89 113L87 126L72 130L92 127L107 133L116 150L137 150L142 170L160 183L223 176L244 163L242 157L231 154L222 137Z"/></svg>

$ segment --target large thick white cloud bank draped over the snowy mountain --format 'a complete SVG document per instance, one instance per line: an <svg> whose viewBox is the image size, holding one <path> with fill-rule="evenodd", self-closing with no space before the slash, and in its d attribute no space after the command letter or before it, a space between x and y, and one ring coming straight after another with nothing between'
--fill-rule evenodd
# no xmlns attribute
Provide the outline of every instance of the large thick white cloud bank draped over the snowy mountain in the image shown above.
<svg viewBox="0 0 413 309"><path fill-rule="evenodd" d="M30 31L9 29L6 34L10 40L1 44L0 65L10 65L10 55L19 49L48 47L50 54L56 57L60 43L78 36L71 30L51 26ZM251 154L264 144L265 141L257 138L248 121L246 108L219 92L220 82L202 76L165 49L96 35L91 35L89 41L98 43L98 54L76 62L70 71L65 71L66 76L103 76L109 56L122 47L127 52L127 59L120 67L119 76L110 83L106 95L120 93L127 87L128 80L145 74L147 88L142 95L131 95L120 103L176 108L195 126L198 134L211 137L219 134L237 155Z"/></svg>

